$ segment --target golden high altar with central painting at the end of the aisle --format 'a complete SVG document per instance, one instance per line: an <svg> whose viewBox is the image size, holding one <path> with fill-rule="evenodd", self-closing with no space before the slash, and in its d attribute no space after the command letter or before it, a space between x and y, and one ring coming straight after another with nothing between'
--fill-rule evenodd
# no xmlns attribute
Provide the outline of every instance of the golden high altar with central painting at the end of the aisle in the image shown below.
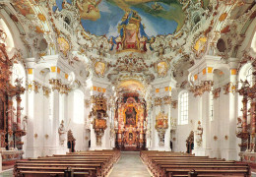
<svg viewBox="0 0 256 177"><path fill-rule="evenodd" d="M123 150L140 150L146 148L145 102L137 95L124 95L118 104L116 117L116 148Z"/></svg>

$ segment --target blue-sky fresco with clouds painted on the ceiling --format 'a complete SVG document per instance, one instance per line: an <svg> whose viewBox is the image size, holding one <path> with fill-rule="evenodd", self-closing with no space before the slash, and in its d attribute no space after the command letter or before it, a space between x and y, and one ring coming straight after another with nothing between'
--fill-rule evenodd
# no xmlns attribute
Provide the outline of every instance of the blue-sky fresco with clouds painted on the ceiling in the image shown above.
<svg viewBox="0 0 256 177"><path fill-rule="evenodd" d="M53 11L62 11L64 3L64 0L56 0ZM119 34L118 25L123 17L131 18L127 14L130 11L141 17L147 36L172 34L185 22L182 4L176 0L81 0L76 3L67 0L66 3L79 9L81 24L86 31L107 37Z"/></svg>

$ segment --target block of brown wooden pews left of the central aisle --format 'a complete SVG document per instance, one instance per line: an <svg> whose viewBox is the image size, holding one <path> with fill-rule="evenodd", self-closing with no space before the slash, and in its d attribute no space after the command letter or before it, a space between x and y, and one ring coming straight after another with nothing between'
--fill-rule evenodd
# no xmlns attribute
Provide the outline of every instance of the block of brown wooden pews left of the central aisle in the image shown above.
<svg viewBox="0 0 256 177"><path fill-rule="evenodd" d="M19 160L14 168L15 176L90 176L103 177L109 173L120 151L89 151ZM69 171L68 171L69 169Z"/></svg>

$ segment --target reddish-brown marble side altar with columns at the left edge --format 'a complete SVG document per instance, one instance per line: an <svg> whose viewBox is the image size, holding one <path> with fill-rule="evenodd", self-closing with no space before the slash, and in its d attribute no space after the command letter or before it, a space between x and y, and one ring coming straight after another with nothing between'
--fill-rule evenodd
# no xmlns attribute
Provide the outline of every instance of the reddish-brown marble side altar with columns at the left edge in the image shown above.
<svg viewBox="0 0 256 177"><path fill-rule="evenodd" d="M22 137L26 132L21 126L21 94L25 89L21 86L21 80L17 79L16 86L11 84L11 69L15 58L9 58L6 46L3 43L6 36L4 31L0 31L0 152L3 161L20 159L23 155ZM1 42L2 41L2 42ZM14 101L17 106L14 107ZM1 168L1 167L0 167Z"/></svg>

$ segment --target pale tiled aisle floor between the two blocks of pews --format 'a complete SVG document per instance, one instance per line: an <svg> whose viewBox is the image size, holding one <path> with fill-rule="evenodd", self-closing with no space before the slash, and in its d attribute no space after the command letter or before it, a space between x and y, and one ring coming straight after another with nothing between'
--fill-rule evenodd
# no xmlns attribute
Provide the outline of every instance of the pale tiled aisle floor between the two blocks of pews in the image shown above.
<svg viewBox="0 0 256 177"><path fill-rule="evenodd" d="M122 151L109 177L151 177L139 151Z"/></svg>

